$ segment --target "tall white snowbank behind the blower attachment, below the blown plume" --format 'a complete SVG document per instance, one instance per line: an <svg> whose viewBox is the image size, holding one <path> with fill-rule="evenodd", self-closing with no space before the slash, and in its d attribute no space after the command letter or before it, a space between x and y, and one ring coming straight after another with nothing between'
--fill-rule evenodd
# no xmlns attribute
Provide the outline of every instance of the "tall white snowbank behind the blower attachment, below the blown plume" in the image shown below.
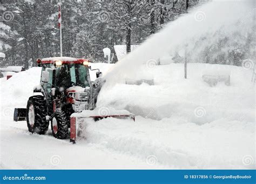
<svg viewBox="0 0 256 184"><path fill-rule="evenodd" d="M231 86L224 83L208 86L201 75L207 69L230 71ZM104 86L97 105L125 109L156 120L185 117L196 124L220 118L254 122L255 88L250 71L237 66L198 63L188 64L188 79L184 79L183 71L184 64L157 65L150 70L154 86Z"/></svg>

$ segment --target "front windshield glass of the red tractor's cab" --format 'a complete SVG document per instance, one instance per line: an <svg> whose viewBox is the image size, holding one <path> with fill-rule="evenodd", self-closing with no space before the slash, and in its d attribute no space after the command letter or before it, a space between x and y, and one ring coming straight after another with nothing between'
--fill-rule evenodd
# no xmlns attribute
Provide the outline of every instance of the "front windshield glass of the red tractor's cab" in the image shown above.
<svg viewBox="0 0 256 184"><path fill-rule="evenodd" d="M63 64L56 67L56 85L69 88L71 86L89 86L87 67L80 64Z"/></svg>

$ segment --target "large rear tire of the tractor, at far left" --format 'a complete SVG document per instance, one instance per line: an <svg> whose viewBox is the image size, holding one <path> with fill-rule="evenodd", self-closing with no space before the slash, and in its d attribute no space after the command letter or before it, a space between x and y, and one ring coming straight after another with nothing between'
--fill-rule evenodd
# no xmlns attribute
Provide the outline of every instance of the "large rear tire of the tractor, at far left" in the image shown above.
<svg viewBox="0 0 256 184"><path fill-rule="evenodd" d="M32 114L34 114L34 116ZM26 105L26 123L28 125L29 132L45 134L49 127L49 121L46 120L46 115L47 108L44 97L30 97L28 104Z"/></svg>

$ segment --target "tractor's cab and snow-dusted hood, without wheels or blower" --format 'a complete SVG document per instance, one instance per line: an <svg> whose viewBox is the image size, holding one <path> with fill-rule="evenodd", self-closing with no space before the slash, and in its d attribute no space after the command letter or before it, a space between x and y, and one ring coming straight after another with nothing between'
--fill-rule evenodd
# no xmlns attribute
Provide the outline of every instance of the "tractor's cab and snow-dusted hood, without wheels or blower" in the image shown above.
<svg viewBox="0 0 256 184"><path fill-rule="evenodd" d="M56 57L37 59L37 63L42 67L41 91L50 102L48 104L53 106L53 111L58 104L64 107L64 111L68 108L70 113L95 106L93 102L96 100L92 100L95 85L90 80L89 60Z"/></svg>

